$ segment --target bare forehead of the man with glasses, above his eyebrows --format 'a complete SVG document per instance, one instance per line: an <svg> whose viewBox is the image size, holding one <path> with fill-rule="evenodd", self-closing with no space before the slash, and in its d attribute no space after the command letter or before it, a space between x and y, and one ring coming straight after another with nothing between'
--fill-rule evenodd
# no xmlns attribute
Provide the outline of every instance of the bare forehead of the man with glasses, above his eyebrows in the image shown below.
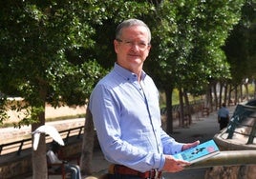
<svg viewBox="0 0 256 179"><path fill-rule="evenodd" d="M128 28L123 28L121 30L121 36L123 38L139 38L139 39L148 39L149 34L148 30L143 26L131 26Z"/></svg>

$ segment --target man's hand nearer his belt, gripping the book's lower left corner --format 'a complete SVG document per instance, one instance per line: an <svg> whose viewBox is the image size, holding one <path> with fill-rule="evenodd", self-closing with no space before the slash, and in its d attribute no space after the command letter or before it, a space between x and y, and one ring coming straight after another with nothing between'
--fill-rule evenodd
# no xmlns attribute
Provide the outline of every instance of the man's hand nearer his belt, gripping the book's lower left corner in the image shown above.
<svg viewBox="0 0 256 179"><path fill-rule="evenodd" d="M178 160L172 155L165 155L165 163L163 170L167 172L179 172L184 169L185 166L189 166L190 163L184 160Z"/></svg>

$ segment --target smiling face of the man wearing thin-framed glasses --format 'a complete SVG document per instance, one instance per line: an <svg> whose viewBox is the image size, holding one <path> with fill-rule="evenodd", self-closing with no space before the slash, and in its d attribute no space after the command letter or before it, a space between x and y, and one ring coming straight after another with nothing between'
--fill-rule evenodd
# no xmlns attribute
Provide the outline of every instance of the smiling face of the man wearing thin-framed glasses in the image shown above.
<svg viewBox="0 0 256 179"><path fill-rule="evenodd" d="M126 70L138 72L148 56L150 45L148 31L142 26L132 26L121 31L114 41L117 64Z"/></svg>

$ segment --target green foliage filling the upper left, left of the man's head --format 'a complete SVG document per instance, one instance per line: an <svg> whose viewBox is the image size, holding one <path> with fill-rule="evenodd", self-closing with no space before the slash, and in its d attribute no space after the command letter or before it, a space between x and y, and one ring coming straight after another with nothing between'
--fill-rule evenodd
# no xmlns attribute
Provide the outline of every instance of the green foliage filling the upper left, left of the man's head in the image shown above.
<svg viewBox="0 0 256 179"><path fill-rule="evenodd" d="M24 124L38 121L46 102L85 104L110 68L105 58L114 59L113 27L150 10L146 2L124 0L2 1L0 6L0 90L23 97L31 107Z"/></svg>

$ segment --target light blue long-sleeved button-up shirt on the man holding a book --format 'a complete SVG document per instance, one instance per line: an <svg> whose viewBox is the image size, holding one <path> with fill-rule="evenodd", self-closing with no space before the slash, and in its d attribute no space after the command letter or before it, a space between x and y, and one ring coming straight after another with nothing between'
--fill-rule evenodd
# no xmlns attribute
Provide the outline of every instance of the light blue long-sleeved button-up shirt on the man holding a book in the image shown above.
<svg viewBox="0 0 256 179"><path fill-rule="evenodd" d="M143 71L138 76L115 64L94 89L89 108L108 161L141 172L162 169L163 154L181 151L161 129L159 91Z"/></svg>

